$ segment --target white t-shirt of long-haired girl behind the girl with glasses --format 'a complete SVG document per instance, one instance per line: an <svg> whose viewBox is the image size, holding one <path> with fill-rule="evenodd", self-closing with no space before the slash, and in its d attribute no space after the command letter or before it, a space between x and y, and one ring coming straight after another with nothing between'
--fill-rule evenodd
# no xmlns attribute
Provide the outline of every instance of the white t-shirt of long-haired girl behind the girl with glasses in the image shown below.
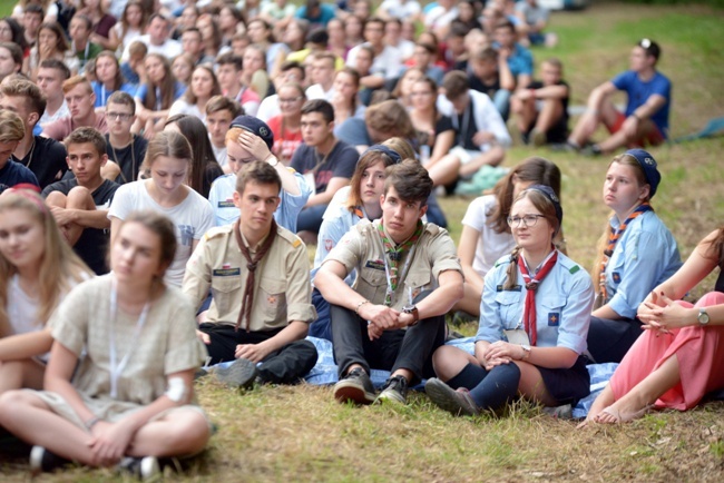
<svg viewBox="0 0 724 483"><path fill-rule="evenodd" d="M118 196L118 195L116 195ZM516 247L516 240L508 233L496 233L488 224L488 213L498 201L495 195L486 195L472 200L462 224L480 233L472 269L485 277L496 262Z"/></svg>

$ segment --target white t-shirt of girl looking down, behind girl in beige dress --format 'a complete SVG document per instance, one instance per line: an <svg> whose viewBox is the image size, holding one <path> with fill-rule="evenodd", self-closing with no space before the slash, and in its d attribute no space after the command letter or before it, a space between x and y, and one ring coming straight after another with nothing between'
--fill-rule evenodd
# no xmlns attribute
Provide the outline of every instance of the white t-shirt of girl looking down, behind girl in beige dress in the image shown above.
<svg viewBox="0 0 724 483"><path fill-rule="evenodd" d="M108 218L126 219L131 211L140 209L153 209L166 215L174 223L177 246L176 256L164 279L168 284L180 286L186 262L192 256L193 241L199 240L214 226L214 211L208 200L190 188L186 188L188 195L178 205L172 208L160 206L148 193L147 183L154 181L145 179L118 188L108 210Z"/></svg>

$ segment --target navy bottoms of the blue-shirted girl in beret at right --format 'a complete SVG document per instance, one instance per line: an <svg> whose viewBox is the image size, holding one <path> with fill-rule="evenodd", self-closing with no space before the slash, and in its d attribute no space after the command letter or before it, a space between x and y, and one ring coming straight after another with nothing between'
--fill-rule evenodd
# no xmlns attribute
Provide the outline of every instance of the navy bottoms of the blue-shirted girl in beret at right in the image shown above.
<svg viewBox="0 0 724 483"><path fill-rule="evenodd" d="M588 352L597 364L619 363L643 333L642 323L637 318L612 321L590 317Z"/></svg>

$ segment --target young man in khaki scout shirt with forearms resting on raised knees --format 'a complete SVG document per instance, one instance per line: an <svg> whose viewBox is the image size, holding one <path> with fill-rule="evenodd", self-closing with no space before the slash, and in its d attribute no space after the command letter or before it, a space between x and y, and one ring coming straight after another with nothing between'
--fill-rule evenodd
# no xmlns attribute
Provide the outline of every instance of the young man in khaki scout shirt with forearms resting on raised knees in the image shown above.
<svg viewBox="0 0 724 483"><path fill-rule="evenodd" d="M430 356L444 343L444 314L462 298L452 239L421 221L432 189L428 171L408 159L385 175L382 219L360 221L314 278L331 304L340 402L374 402L374 367L392 372L376 398L404 404L408 386L432 375ZM344 278L352 269L358 278L350 287Z"/></svg>

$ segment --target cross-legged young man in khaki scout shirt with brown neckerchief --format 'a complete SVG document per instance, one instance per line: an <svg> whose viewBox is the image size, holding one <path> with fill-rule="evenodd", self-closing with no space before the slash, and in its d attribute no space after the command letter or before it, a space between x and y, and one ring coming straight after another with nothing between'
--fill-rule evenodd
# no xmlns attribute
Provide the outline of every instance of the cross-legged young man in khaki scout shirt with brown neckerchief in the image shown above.
<svg viewBox="0 0 724 483"><path fill-rule="evenodd" d="M292 384L316 364L303 341L316 318L310 260L302 240L274 221L281 187L270 164L244 167L234 193L241 218L211 229L186 266L183 290L197 307L212 292L198 335L212 363L236 361L217 371L234 386Z"/></svg>

